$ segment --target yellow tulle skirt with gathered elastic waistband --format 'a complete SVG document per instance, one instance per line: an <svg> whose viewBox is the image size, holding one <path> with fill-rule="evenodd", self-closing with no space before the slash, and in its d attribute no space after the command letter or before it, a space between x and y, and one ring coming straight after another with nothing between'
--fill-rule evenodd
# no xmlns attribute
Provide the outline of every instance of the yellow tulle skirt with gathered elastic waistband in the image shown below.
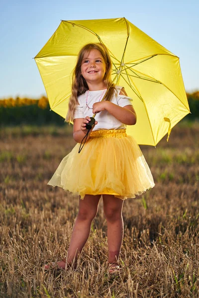
<svg viewBox="0 0 199 298"><path fill-rule="evenodd" d="M80 153L77 144L65 156L49 185L62 187L83 200L86 194L109 194L125 200L154 187L146 160L125 129L91 132Z"/></svg>

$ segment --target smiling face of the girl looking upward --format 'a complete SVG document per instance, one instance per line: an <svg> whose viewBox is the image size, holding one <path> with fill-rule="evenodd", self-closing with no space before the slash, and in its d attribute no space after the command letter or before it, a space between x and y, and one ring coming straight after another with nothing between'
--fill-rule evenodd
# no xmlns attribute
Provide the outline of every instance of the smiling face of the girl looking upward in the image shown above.
<svg viewBox="0 0 199 298"><path fill-rule="evenodd" d="M91 50L86 53L81 65L81 74L87 83L101 83L106 71L105 62L100 51Z"/></svg>

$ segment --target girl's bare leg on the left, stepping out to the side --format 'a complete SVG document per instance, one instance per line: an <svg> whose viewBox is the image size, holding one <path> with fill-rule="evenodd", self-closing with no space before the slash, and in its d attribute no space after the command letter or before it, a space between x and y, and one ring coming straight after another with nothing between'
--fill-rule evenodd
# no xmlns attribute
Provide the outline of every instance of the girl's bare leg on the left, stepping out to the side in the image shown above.
<svg viewBox="0 0 199 298"><path fill-rule="evenodd" d="M98 206L101 195L86 195L84 200L79 199L79 212L73 228L71 241L68 249L67 259L59 261L57 264L65 268L66 261L71 265L74 261L76 267L78 253L81 253L91 231L91 224L98 213ZM49 265L45 265L48 269Z"/></svg>

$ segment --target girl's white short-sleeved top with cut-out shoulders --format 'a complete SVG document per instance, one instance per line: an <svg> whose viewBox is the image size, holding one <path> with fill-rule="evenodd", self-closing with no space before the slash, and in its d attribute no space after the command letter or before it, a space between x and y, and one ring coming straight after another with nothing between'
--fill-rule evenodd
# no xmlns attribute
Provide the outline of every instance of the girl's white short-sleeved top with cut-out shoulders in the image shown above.
<svg viewBox="0 0 199 298"><path fill-rule="evenodd" d="M120 106L125 107L126 105L132 105L132 99L126 95L120 95L121 86L115 86L116 94L114 92L111 102ZM78 102L80 105L77 105L74 119L77 118L85 118L86 116L93 117L93 104L95 102L99 102L102 99L102 95L105 94L105 90L97 90L97 91L86 91L84 94L78 96ZM88 95L88 102L87 101ZM125 129L126 125L117 120L114 116L112 116L107 111L101 111L95 116L98 124L94 127L93 131L96 130L106 130L106 129Z"/></svg>

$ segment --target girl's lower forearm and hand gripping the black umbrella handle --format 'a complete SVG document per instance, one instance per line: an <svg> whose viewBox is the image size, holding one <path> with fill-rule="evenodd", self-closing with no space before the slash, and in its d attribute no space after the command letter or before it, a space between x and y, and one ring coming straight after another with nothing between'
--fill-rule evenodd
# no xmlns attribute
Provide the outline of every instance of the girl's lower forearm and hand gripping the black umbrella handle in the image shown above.
<svg viewBox="0 0 199 298"><path fill-rule="evenodd" d="M88 130L86 129L86 124L89 123L90 117L87 116L85 119L84 118L77 118L74 119L74 124L73 124L73 139L77 143L81 143L82 139L86 136ZM98 124L98 121L95 122L95 125ZM94 129L95 125L92 127L92 129L89 132L89 135L87 137L87 140L89 140L90 134L92 130Z"/></svg>

